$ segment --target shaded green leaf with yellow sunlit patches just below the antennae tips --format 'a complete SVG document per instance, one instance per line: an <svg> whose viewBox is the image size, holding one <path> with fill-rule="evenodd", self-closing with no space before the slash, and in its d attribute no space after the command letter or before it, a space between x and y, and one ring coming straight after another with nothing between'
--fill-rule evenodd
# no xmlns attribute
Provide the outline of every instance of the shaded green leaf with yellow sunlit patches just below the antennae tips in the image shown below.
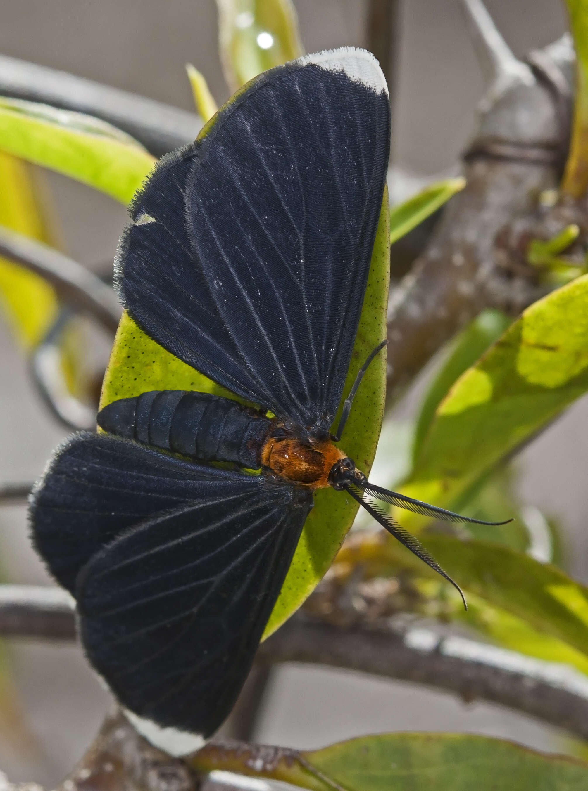
<svg viewBox="0 0 588 791"><path fill-rule="evenodd" d="M365 578L392 577L399 571L434 581L453 597L457 617L509 648L540 659L567 662L586 672L588 663L588 588L549 563L540 563L510 547L478 539L423 533L420 541L465 591L461 597L431 568L384 531L357 532L336 556L341 573L361 569ZM437 596L423 590L423 595ZM484 623L485 621L485 623ZM516 626L522 623L517 635Z"/></svg>

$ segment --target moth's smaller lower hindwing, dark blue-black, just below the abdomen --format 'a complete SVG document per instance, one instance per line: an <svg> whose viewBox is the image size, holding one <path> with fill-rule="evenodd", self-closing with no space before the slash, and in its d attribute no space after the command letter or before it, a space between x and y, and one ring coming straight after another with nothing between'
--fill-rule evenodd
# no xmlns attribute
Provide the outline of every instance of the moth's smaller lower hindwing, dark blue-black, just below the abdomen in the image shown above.
<svg viewBox="0 0 588 791"><path fill-rule="evenodd" d="M51 574L74 593L82 566L138 522L203 495L229 498L263 485L271 486L255 476L82 432L56 450L32 493L32 539Z"/></svg>

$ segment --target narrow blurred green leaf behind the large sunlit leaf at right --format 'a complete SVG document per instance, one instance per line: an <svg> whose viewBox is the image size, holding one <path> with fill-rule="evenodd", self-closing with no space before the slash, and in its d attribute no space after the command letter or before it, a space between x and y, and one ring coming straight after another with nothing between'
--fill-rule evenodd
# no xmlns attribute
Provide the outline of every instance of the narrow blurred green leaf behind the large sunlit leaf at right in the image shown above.
<svg viewBox="0 0 588 791"><path fill-rule="evenodd" d="M499 339L510 324L512 324L512 319L510 316L506 316L506 313L499 310L484 310L465 330L457 335L451 344L450 354L429 387L420 409L419 419L416 423L415 443L412 449L413 464L419 457L435 410L449 392L452 384L484 354L488 346Z"/></svg>

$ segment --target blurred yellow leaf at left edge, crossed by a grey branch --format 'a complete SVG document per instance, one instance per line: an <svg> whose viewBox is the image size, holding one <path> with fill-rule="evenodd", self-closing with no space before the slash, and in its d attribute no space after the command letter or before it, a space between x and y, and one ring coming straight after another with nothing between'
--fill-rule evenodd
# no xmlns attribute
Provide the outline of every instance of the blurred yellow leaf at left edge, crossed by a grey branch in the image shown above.
<svg viewBox="0 0 588 791"><path fill-rule="evenodd" d="M30 165L0 151L0 225L51 243L36 177ZM43 337L57 313L51 286L39 275L0 258L0 307L25 349Z"/></svg>

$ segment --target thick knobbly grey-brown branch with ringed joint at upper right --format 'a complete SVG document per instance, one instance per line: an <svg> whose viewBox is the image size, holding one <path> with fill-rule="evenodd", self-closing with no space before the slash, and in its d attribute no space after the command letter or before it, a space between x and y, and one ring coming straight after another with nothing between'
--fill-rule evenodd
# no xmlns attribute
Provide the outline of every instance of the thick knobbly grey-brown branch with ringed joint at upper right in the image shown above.
<svg viewBox="0 0 588 791"><path fill-rule="evenodd" d="M481 40L489 46L494 39L488 34ZM572 78L573 52L565 41L535 51L533 70L503 52L497 47L487 57L495 77L465 153L468 184L446 206L427 248L391 294L389 397L484 308L516 316L546 292L525 262L521 235L510 229L524 218L525 231L532 227L533 235L544 237L537 198L557 187L563 167L571 93L563 96L562 86Z"/></svg>

